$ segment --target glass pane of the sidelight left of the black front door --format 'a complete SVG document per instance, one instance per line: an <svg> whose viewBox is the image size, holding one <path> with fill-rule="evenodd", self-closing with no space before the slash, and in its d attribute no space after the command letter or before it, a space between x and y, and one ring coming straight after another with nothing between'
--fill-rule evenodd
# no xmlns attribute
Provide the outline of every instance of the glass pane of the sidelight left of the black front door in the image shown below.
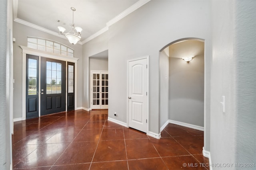
<svg viewBox="0 0 256 170"><path fill-rule="evenodd" d="M37 60L28 59L28 95L37 93Z"/></svg>

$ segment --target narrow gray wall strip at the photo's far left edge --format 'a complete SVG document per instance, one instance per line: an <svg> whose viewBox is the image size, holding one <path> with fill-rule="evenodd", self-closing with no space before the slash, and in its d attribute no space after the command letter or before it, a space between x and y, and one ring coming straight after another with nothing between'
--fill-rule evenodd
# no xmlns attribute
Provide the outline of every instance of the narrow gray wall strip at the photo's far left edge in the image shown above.
<svg viewBox="0 0 256 170"><path fill-rule="evenodd" d="M12 61L12 1L0 2L0 169L10 170L12 138L10 125L10 63Z"/></svg>

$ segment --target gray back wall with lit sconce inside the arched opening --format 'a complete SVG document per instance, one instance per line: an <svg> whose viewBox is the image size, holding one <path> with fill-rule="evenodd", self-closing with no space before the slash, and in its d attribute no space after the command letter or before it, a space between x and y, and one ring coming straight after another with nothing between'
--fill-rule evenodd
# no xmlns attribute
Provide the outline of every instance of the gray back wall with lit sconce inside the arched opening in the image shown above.
<svg viewBox="0 0 256 170"><path fill-rule="evenodd" d="M204 127L204 42L170 45L169 119ZM194 55L189 63L180 59Z"/></svg>

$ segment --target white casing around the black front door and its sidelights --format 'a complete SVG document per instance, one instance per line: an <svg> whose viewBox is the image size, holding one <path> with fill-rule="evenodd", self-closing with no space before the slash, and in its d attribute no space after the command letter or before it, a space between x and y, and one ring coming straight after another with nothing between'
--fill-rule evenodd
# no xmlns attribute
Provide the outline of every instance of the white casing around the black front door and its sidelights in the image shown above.
<svg viewBox="0 0 256 170"><path fill-rule="evenodd" d="M39 57L39 68L41 61L40 61L40 57L45 57L45 58L50 58L50 59L56 59L56 60L61 60L61 61L66 61L66 62L72 62L75 63L75 96L77 97L77 88L76 88L76 81L77 81L77 61L78 58L75 57L65 57L62 55L58 55L58 54L53 54L53 53L48 53L46 51L40 51L37 49L31 49L29 47L25 47L20 45L20 48L22 49L22 120L26 120L26 55L35 55ZM39 74L40 74L40 69L39 69ZM40 78L39 78L40 81ZM67 80L66 80L67 81ZM65 82L67 83L67 82ZM39 86L40 86L40 82L39 82ZM39 87L40 89L40 87ZM67 90L66 90L66 96L67 96ZM40 117L40 93L38 93L38 117ZM75 100L75 110L77 108L77 104L76 104ZM65 107L67 108L67 107Z"/></svg>

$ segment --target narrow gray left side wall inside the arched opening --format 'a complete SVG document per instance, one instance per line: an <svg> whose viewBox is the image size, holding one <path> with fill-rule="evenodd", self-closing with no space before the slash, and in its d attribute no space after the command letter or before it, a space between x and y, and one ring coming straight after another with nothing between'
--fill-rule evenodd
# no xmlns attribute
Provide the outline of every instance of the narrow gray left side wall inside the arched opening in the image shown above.
<svg viewBox="0 0 256 170"><path fill-rule="evenodd" d="M169 47L166 51L160 52L159 55L159 115L160 127L168 121L168 108L169 108Z"/></svg>

